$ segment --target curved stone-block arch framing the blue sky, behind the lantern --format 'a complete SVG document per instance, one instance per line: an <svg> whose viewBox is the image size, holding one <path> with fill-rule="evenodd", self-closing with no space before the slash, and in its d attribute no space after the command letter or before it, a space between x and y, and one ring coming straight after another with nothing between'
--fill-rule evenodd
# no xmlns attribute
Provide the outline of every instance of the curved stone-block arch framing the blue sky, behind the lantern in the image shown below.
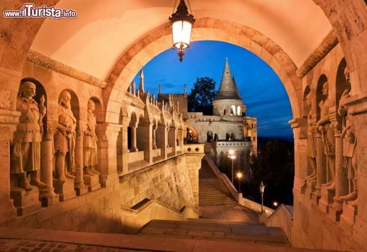
<svg viewBox="0 0 367 252"><path fill-rule="evenodd" d="M302 80L296 75L297 68L292 59L275 42L250 27L213 18L196 20L192 41L199 40L216 40L238 45L266 61L285 87L291 101L293 117L300 117ZM121 54L111 70L104 92L107 122L118 121L123 95L136 73L170 45L171 28L166 24L150 31ZM120 97L120 101L117 97Z"/></svg>

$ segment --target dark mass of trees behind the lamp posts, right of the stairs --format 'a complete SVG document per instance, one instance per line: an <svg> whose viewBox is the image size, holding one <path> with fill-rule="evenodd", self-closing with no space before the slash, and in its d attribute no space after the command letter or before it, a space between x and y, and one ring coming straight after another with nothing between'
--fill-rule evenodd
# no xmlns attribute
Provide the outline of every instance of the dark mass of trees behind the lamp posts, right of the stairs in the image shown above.
<svg viewBox="0 0 367 252"><path fill-rule="evenodd" d="M261 180L266 185L264 205L273 207L293 205L294 181L294 143L280 139L272 139L257 151L257 156L250 162L252 172L252 195L261 203L259 185Z"/></svg>

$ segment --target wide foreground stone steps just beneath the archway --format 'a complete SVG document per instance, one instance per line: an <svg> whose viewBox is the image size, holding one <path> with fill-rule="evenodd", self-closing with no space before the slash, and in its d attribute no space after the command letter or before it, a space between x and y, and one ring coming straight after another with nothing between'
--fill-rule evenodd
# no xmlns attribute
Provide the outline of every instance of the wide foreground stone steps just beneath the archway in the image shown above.
<svg viewBox="0 0 367 252"><path fill-rule="evenodd" d="M215 219L187 219L185 222L154 219L138 235L290 246L281 228Z"/></svg>

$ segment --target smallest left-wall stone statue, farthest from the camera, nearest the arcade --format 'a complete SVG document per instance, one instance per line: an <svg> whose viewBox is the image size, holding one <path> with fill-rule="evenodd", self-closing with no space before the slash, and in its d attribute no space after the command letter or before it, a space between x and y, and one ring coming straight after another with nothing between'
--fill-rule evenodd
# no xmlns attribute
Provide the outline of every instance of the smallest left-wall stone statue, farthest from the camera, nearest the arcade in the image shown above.
<svg viewBox="0 0 367 252"><path fill-rule="evenodd" d="M100 174L100 172L95 170L95 166L98 165L98 158L97 158L98 138L95 133L97 120L96 116L93 113L94 110L95 110L95 103L92 100L89 100L88 113L87 113L87 130L84 133L83 138L84 174L89 176Z"/></svg>

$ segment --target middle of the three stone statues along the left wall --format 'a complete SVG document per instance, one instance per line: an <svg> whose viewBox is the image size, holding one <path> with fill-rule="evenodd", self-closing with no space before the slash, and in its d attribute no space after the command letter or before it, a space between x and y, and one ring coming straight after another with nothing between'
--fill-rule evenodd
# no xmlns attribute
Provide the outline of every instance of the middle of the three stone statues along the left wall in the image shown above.
<svg viewBox="0 0 367 252"><path fill-rule="evenodd" d="M71 96L66 90L59 98L58 126L55 134L55 178L65 182L66 178L73 179L75 172L75 128L76 118L71 111Z"/></svg>

